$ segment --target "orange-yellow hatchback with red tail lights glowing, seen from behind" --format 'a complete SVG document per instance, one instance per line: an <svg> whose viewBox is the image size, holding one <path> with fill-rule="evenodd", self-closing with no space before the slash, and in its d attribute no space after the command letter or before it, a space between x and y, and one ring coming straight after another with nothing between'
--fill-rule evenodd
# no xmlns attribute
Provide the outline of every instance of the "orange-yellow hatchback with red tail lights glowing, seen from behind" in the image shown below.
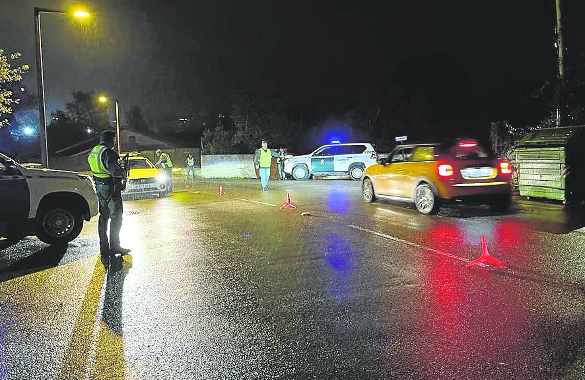
<svg viewBox="0 0 585 380"><path fill-rule="evenodd" d="M362 195L414 203L419 212L438 211L444 201L477 201L491 209L510 206L512 167L475 140L398 146L366 169Z"/></svg>

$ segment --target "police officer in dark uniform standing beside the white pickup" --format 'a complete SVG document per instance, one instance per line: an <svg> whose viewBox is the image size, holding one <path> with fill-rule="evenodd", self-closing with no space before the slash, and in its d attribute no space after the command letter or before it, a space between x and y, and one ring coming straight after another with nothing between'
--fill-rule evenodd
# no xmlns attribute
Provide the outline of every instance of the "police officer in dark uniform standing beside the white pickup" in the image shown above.
<svg viewBox="0 0 585 380"><path fill-rule="evenodd" d="M109 258L116 254L124 255L130 252L129 249L120 246L123 214L121 191L126 168L122 167L118 153L113 150L115 140L116 133L112 130L102 132L99 135L99 145L95 146L87 157L99 200L99 252L105 267L108 266ZM108 220L111 220L109 242L106 233Z"/></svg>

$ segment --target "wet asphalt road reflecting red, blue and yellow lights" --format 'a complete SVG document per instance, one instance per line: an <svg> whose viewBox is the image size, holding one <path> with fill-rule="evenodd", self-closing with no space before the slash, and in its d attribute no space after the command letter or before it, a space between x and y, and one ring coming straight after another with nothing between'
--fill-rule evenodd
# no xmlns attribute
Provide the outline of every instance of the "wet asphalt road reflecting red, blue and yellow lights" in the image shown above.
<svg viewBox="0 0 585 380"><path fill-rule="evenodd" d="M269 186L126 202L107 272L97 218L68 247L0 241L0 379L585 378L583 210ZM466 267L481 234L508 268Z"/></svg>

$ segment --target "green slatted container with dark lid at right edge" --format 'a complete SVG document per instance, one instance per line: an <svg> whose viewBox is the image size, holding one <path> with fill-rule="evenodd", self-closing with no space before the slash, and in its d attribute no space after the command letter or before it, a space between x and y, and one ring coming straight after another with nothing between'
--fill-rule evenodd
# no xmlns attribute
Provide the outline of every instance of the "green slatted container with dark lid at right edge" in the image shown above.
<svg viewBox="0 0 585 380"><path fill-rule="evenodd" d="M545 128L522 137L516 146L520 195L583 199L584 132L585 126Z"/></svg>

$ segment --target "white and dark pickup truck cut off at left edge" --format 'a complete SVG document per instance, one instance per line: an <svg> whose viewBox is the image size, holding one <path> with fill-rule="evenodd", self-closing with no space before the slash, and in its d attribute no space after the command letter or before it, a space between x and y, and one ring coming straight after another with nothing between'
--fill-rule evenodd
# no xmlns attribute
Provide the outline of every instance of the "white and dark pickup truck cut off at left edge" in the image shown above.
<svg viewBox="0 0 585 380"><path fill-rule="evenodd" d="M0 153L0 236L63 244L98 213L94 181L71 171L26 168Z"/></svg>

